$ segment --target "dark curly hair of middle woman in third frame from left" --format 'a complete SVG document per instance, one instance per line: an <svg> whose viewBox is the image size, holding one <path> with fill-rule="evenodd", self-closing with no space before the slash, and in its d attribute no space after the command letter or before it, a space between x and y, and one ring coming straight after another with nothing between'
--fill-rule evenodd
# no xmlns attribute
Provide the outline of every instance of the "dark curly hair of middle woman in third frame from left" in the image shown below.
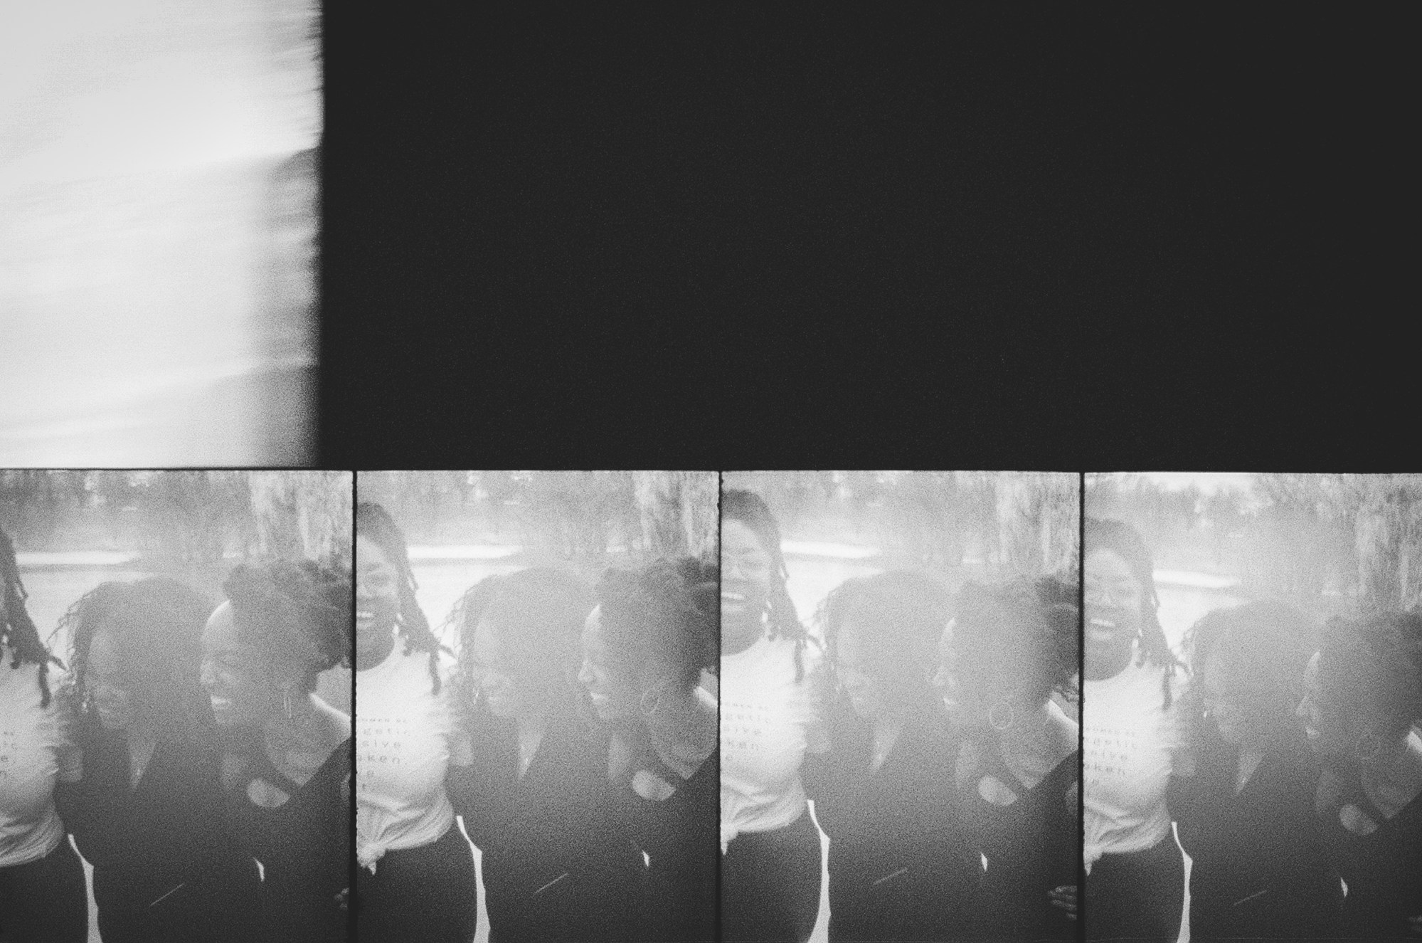
<svg viewBox="0 0 1422 943"><path fill-rule="evenodd" d="M887 697L900 705L937 708L939 696L924 667L933 664L951 597L939 580L914 570L889 570L845 580L815 614L835 651L846 622L863 633L870 657L866 668Z"/></svg>

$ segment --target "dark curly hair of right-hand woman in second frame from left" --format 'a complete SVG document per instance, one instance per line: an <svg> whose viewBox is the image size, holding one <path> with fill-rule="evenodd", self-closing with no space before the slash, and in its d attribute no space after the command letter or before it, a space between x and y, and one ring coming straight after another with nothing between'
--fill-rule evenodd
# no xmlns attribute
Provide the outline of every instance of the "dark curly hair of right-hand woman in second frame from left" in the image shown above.
<svg viewBox="0 0 1422 943"><path fill-rule="evenodd" d="M614 668L631 678L670 674L681 690L694 688L720 656L718 572L681 558L603 573L597 603Z"/></svg>

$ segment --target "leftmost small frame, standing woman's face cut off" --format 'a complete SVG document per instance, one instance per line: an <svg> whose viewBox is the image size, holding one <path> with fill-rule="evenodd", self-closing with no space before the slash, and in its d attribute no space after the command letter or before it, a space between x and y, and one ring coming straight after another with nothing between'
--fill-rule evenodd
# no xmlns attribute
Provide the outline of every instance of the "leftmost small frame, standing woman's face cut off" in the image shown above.
<svg viewBox="0 0 1422 943"><path fill-rule="evenodd" d="M0 471L0 940L347 939L351 485Z"/></svg>

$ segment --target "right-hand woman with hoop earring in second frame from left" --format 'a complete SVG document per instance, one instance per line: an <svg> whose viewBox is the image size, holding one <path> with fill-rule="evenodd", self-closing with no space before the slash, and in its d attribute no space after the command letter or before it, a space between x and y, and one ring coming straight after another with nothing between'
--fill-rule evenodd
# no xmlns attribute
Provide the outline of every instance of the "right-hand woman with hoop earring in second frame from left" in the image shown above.
<svg viewBox="0 0 1422 943"><path fill-rule="evenodd" d="M641 940L715 930L717 703L698 681L717 657L717 568L694 559L611 569L583 624L583 666L613 728L607 778L646 855Z"/></svg>

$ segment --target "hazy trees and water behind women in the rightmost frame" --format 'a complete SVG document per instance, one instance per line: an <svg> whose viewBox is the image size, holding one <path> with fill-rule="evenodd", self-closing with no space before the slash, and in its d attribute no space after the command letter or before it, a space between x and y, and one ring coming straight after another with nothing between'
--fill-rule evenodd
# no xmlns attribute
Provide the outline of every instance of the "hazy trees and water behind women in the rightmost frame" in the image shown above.
<svg viewBox="0 0 1422 943"><path fill-rule="evenodd" d="M1086 513L1150 548L1176 650L1200 616L1249 599L1318 620L1422 599L1422 475L1091 474Z"/></svg>

